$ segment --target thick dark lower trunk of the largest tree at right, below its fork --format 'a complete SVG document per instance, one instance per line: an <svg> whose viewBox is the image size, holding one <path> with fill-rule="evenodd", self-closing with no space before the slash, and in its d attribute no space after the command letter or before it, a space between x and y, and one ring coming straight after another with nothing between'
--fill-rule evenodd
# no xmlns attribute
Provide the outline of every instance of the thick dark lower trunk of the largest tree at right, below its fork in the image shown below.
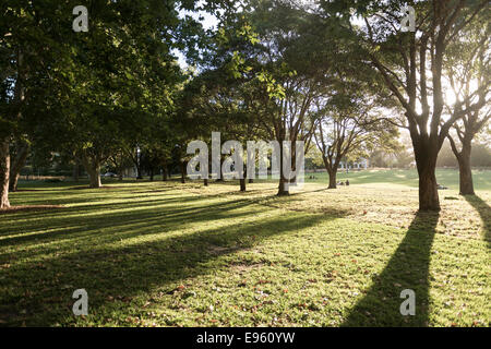
<svg viewBox="0 0 491 349"><path fill-rule="evenodd" d="M419 210L440 210L439 190L435 176L436 159L426 166L418 166ZM420 169L421 167L421 169Z"/></svg>

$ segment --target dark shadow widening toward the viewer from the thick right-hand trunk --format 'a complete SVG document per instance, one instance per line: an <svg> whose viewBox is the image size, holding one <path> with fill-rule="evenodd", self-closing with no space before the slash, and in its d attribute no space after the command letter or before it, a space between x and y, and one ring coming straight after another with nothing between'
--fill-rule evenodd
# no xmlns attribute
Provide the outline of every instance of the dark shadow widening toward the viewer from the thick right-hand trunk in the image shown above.
<svg viewBox="0 0 491 349"><path fill-rule="evenodd" d="M430 252L438 213L418 213L403 241L342 326L428 326ZM416 293L416 314L402 315L400 292Z"/></svg>

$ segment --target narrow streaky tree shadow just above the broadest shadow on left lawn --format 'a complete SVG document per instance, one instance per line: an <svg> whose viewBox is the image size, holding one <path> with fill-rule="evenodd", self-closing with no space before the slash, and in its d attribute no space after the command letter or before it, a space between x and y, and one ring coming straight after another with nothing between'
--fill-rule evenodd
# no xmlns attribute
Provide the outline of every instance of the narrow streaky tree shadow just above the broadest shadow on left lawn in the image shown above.
<svg viewBox="0 0 491 349"><path fill-rule="evenodd" d="M67 243L91 243L91 240L94 238L109 241L113 240L111 233L116 233L119 239L128 239L134 236L143 236L147 233L155 232L165 232L167 230L173 229L179 225L185 224L194 224L194 222L203 222L206 224L211 220L218 219L235 219L242 216L247 216L251 214L249 210L238 212L238 209L246 207L249 205L247 201L236 200L236 201L227 201L227 202L218 202L213 204L212 206L190 206L190 207L180 207L180 206L158 206L155 201L155 206L152 208L142 208L147 207L144 204L147 202L139 202L141 208L139 209L134 203L127 203L117 205L118 208L132 208L131 210L118 212L115 209L108 214L100 214L97 216L81 216L73 217L67 216L63 214L73 213L76 207L73 209L60 212L58 216L52 216L49 220L49 225L47 225L46 219L39 219L39 216L32 216L31 219L22 220L19 225L11 225L11 228L19 229L22 227L24 233L14 234L14 237L9 237L9 234L2 236L0 230L0 246L9 246L9 245L26 245L28 243L47 243L57 242L58 245L53 246L53 249L59 248L60 242ZM160 204L168 204L168 200L159 201ZM116 206L116 205L113 205ZM94 205L92 210L97 210L100 208L100 205ZM89 210L86 210L89 213ZM33 219L35 218L35 219ZM36 219L37 218L37 219ZM46 218L46 217L45 217ZM165 226L165 228L163 228ZM46 230L49 232L46 232ZM103 230L104 234L99 234L98 237L94 236L94 231ZM25 233L29 232L29 233ZM39 253L52 252L49 248L45 248ZM34 256L34 253L31 256ZM0 258L1 261L1 258Z"/></svg>

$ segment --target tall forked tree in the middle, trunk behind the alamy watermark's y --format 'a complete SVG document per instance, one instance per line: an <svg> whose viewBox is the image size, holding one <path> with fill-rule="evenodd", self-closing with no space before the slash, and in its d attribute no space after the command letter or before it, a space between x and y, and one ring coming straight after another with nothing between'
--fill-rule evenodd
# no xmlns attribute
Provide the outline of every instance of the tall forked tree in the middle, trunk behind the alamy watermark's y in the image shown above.
<svg viewBox="0 0 491 349"><path fill-rule="evenodd" d="M296 171L296 142L304 142L306 152L312 145L319 122L314 101L331 88L335 62L345 58L344 43L337 21L320 19L292 2L258 1L253 8L255 45L241 55L258 81L260 125L280 145L278 195L287 195L296 177L285 173L282 145L291 142L287 167Z"/></svg>

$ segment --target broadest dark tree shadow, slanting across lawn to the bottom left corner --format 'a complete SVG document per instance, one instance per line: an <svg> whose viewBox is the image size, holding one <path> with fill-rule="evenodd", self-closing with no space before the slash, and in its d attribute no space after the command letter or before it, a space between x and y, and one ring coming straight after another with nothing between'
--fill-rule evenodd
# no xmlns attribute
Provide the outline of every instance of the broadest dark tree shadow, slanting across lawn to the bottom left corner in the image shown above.
<svg viewBox="0 0 491 349"><path fill-rule="evenodd" d="M218 267L213 262L220 256L330 219L334 218L278 215L180 236L163 233L161 239L130 245L118 244L118 237L103 244L92 242L83 251L50 255L43 264L32 262L12 268L8 278L15 279L17 291L0 296L0 317L8 325L23 321L26 325L44 326L63 323L71 316L71 293L76 288L85 288L91 294L93 314L110 313L109 297L121 294L131 299L155 287L171 292L179 280L213 273ZM225 262L220 262L220 267L221 263ZM24 292L29 297L23 297Z"/></svg>

